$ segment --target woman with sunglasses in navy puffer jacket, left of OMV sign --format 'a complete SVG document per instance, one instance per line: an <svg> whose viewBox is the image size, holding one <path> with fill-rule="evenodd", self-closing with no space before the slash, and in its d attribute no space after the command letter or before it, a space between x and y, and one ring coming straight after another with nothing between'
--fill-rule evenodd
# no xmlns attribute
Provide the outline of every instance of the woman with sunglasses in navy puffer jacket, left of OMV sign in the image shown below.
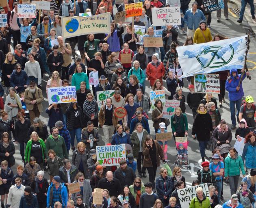
<svg viewBox="0 0 256 208"><path fill-rule="evenodd" d="M158 199L163 203L163 207L166 207L169 204L169 198L174 189L174 184L171 177L168 176L167 169L164 167L161 168L159 174L160 176L156 178L156 191Z"/></svg>

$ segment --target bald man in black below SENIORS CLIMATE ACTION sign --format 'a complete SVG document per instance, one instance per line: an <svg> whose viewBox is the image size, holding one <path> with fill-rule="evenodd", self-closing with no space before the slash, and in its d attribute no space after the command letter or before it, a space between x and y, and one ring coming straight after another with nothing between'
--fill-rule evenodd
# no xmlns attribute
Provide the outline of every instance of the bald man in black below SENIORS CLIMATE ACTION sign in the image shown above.
<svg viewBox="0 0 256 208"><path fill-rule="evenodd" d="M117 197L119 194L121 194L121 184L119 180L113 178L112 171L106 172L106 178L100 179L97 188L107 189L110 196Z"/></svg>

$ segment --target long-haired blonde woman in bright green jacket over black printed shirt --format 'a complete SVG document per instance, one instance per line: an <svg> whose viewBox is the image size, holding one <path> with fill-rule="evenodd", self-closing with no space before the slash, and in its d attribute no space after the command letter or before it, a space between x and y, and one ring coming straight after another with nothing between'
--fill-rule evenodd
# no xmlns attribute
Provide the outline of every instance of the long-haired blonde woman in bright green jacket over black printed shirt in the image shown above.
<svg viewBox="0 0 256 208"><path fill-rule="evenodd" d="M43 139L40 139L37 132L32 132L30 135L30 140L26 145L25 150L25 163L29 162L29 158L34 156L36 158L37 164L43 169L43 163L46 163L46 145Z"/></svg>

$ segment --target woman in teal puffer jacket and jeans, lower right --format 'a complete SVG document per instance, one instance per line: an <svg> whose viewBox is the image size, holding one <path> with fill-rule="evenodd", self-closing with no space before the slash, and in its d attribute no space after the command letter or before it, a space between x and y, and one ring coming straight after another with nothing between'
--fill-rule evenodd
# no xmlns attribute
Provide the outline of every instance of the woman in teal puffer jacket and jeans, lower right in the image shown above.
<svg viewBox="0 0 256 208"><path fill-rule="evenodd" d="M240 177L240 169L243 174L243 178L245 177L245 169L243 167L243 160L240 155L237 154L237 151L234 147L229 150L228 156L225 158L225 177L229 180L229 188L230 195L236 193L239 177Z"/></svg>

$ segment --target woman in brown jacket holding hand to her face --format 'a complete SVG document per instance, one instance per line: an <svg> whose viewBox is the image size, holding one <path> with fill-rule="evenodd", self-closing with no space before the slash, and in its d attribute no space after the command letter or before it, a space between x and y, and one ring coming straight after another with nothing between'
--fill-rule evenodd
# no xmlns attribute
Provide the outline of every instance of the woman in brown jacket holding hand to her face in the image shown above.
<svg viewBox="0 0 256 208"><path fill-rule="evenodd" d="M149 180L155 188L156 169L160 166L160 159L165 162L163 150L159 143L148 135L143 143L142 154L145 156L143 166L148 170Z"/></svg>

